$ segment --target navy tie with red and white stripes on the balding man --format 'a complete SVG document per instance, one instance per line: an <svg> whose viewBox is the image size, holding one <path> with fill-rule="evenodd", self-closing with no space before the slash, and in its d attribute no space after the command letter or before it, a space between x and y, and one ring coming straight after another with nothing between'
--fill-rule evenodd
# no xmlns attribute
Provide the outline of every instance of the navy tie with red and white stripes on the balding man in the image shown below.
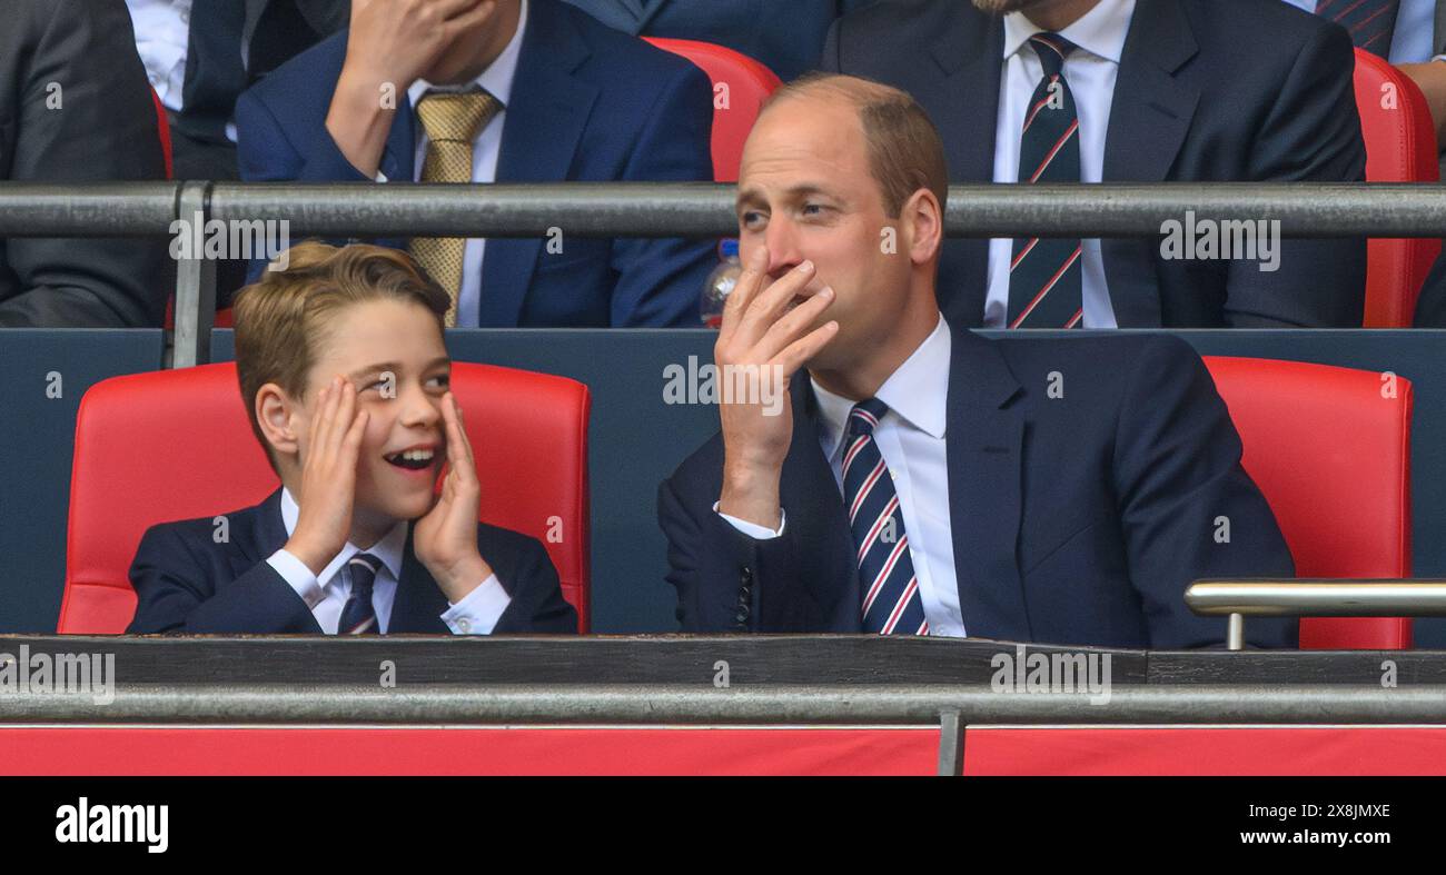
<svg viewBox="0 0 1446 875"><path fill-rule="evenodd" d="M888 409L882 401L870 398L849 411L843 499L849 503L849 528L857 548L863 593L859 613L865 632L928 635L924 596L918 592L914 561L908 554L899 496L884 464L884 454L873 441L873 428Z"/></svg>

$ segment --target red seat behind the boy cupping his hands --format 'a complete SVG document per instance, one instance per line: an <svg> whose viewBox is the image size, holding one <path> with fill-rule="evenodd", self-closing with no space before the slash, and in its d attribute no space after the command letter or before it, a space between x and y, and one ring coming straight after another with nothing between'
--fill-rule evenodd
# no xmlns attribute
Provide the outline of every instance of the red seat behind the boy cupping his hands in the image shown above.
<svg viewBox="0 0 1446 875"><path fill-rule="evenodd" d="M482 480L482 519L547 545L589 628L587 386L458 362L453 390ZM145 531L254 505L278 486L252 434L236 366L119 376L75 422L65 597L58 632L120 633L136 609L127 571ZM551 537L549 537L551 535Z"/></svg>

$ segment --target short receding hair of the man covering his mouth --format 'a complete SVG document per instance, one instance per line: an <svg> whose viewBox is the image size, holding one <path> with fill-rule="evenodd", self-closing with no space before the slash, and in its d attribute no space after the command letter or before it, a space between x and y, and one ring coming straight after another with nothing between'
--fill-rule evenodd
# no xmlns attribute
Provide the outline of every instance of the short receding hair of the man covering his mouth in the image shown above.
<svg viewBox="0 0 1446 875"><path fill-rule="evenodd" d="M904 201L920 188L934 192L940 208L946 205L944 142L928 113L907 91L862 77L810 72L774 91L759 114L784 100L817 95L843 98L857 110L869 149L869 174L879 184L886 215L898 217Z"/></svg>

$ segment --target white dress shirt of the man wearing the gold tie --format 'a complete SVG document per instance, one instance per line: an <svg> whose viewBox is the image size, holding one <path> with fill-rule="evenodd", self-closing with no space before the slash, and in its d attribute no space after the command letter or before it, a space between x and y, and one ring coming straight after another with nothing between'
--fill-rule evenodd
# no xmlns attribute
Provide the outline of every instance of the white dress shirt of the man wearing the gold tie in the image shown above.
<svg viewBox="0 0 1446 875"><path fill-rule="evenodd" d="M406 90L406 97L412 107L428 91L466 91L473 84L497 98L502 110L477 133L477 140L471 145L471 181L495 182L497 179L497 155L502 152L502 127L508 117L508 103L512 101L512 80L518 72L518 56L522 54L522 35L528 27L528 0L522 0L522 12L518 16L518 30L502 49L496 61L487 65L473 82L464 85L432 85L425 80L412 82ZM422 165L427 162L427 130L422 127L421 116L416 116L416 159L414 162L414 182L422 178ZM383 174L377 174L377 182L386 182ZM477 327L482 314L482 259L486 253L487 242L480 237L469 239L461 256L461 288L457 291L457 324Z"/></svg>

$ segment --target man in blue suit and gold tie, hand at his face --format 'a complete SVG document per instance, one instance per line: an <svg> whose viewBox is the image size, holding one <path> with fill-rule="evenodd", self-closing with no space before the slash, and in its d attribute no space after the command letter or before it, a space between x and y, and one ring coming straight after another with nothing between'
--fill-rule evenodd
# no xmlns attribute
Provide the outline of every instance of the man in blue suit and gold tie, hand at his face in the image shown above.
<svg viewBox="0 0 1446 875"><path fill-rule="evenodd" d="M243 179L713 178L713 91L683 58L560 0L405 6L356 0L348 30L241 95ZM441 111L454 106L460 116ZM411 247L457 301L448 325L698 324L703 282L717 265L710 243L587 239L561 217L557 230L547 240Z"/></svg>

